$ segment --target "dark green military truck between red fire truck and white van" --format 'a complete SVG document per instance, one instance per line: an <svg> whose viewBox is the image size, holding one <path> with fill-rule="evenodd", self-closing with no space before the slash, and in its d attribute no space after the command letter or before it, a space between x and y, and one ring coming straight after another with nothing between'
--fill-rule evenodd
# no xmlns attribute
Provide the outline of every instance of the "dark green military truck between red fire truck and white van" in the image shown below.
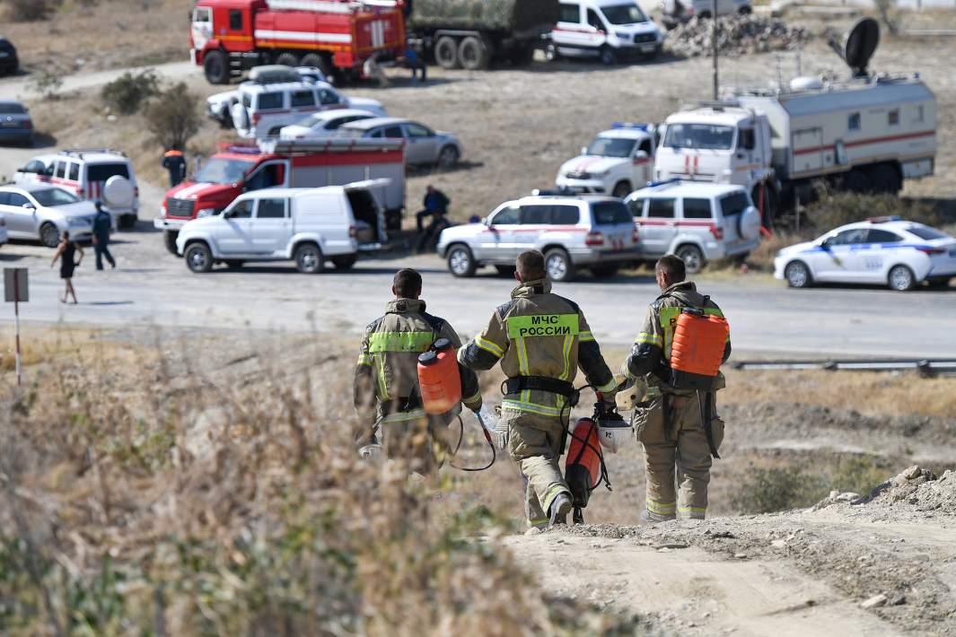
<svg viewBox="0 0 956 637"><path fill-rule="evenodd" d="M409 44L445 69L487 69L532 61L558 0L406 0ZM408 7L411 5L411 7Z"/></svg>

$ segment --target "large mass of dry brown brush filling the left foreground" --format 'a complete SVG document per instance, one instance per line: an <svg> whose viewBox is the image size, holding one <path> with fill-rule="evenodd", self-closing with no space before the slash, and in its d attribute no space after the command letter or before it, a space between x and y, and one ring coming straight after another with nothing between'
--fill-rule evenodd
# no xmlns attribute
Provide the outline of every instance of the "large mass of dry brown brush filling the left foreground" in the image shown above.
<svg viewBox="0 0 956 637"><path fill-rule="evenodd" d="M488 509L441 519L434 486L359 461L329 350L208 375L64 355L0 393L0 632L636 634L547 599Z"/></svg>

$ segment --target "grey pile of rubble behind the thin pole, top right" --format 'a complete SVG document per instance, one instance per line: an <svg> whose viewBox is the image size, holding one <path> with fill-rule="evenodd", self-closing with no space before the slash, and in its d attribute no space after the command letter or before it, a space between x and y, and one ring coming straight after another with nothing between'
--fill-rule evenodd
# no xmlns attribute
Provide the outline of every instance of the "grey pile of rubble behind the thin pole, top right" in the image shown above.
<svg viewBox="0 0 956 637"><path fill-rule="evenodd" d="M790 27L782 20L755 15L734 15L720 18L717 24L717 46L722 55L747 55L768 51L793 51L811 38L809 30ZM681 57L709 56L711 21L691 18L667 33L664 48Z"/></svg>

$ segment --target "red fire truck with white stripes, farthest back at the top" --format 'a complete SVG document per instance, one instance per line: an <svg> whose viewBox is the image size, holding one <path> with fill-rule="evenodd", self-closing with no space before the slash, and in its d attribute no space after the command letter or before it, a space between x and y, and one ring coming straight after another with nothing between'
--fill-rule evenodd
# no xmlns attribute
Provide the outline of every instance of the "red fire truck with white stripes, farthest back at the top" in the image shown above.
<svg viewBox="0 0 956 637"><path fill-rule="evenodd" d="M359 77L366 59L405 47L398 0L198 0L189 48L212 84L263 64Z"/></svg>

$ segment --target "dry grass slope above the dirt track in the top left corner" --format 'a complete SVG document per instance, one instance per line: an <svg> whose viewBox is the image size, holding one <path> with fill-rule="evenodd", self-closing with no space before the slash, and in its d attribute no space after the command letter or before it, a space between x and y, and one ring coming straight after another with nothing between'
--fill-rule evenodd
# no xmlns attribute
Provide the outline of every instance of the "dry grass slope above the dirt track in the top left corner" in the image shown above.
<svg viewBox="0 0 956 637"><path fill-rule="evenodd" d="M49 20L4 24L28 71L101 71L186 59L191 0L64 2Z"/></svg>

